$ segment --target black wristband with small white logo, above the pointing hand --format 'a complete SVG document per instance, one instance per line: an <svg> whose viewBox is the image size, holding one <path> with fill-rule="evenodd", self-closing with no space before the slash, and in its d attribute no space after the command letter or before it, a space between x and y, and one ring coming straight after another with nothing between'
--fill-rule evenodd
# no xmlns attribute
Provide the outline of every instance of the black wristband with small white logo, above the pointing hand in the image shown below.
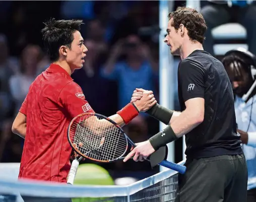
<svg viewBox="0 0 256 202"><path fill-rule="evenodd" d="M162 131L155 134L153 137L149 139L150 144L154 148L154 150L158 150L160 147L167 145L170 142L177 140L177 136L174 133L173 129L170 125L164 128Z"/></svg>

